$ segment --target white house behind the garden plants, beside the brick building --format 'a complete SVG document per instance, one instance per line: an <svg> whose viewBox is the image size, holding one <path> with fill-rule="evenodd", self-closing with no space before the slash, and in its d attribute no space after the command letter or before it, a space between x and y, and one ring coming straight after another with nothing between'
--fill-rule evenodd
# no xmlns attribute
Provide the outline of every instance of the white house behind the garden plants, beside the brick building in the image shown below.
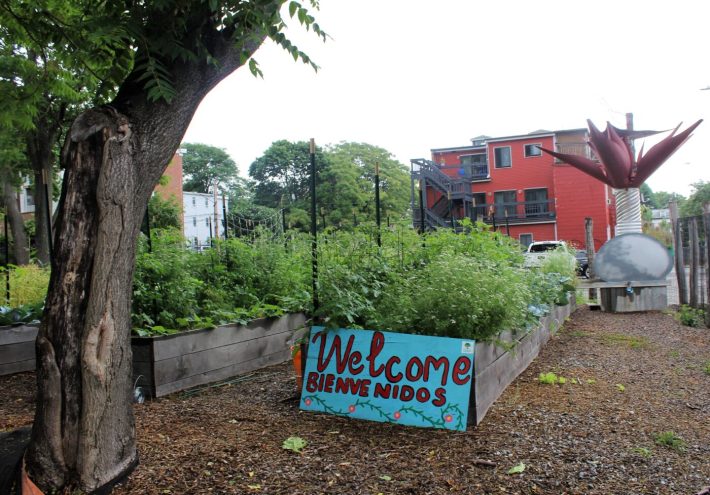
<svg viewBox="0 0 710 495"><path fill-rule="evenodd" d="M222 196L217 195L217 211L215 212L215 196L196 192L182 193L183 226L185 237L196 249L210 245L210 239L217 236L224 238L224 211ZM224 205L229 211L229 200L225 198ZM219 226L215 229L215 224Z"/></svg>

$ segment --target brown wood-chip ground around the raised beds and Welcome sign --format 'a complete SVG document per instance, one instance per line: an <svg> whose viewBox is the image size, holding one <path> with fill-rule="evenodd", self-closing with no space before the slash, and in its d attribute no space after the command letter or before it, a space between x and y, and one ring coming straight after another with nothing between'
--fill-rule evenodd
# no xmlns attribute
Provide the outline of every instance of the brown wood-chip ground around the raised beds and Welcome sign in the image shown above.
<svg viewBox="0 0 710 495"><path fill-rule="evenodd" d="M114 493L706 493L709 366L708 329L583 307L478 427L450 432L299 411L284 364L137 404L141 463ZM0 377L0 431L31 423L34 386Z"/></svg>

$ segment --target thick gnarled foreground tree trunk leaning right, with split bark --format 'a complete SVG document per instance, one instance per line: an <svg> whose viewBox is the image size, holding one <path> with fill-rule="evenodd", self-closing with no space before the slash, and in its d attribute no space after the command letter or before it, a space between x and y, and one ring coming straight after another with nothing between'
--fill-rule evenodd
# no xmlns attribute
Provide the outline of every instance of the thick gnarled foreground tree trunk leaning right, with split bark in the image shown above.
<svg viewBox="0 0 710 495"><path fill-rule="evenodd" d="M45 491L103 490L137 464L130 347L136 238L199 102L244 62L233 43L211 41L220 63L176 62L170 104L148 101L133 74L111 106L81 114L67 136L25 454L30 478Z"/></svg>

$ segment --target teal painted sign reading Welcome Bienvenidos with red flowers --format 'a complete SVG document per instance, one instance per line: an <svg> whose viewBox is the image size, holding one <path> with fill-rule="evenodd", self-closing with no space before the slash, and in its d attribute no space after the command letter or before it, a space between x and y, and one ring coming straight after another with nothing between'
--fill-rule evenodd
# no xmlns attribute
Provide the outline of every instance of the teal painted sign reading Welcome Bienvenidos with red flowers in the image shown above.
<svg viewBox="0 0 710 495"><path fill-rule="evenodd" d="M309 344L301 409L466 429L475 341L313 327Z"/></svg>

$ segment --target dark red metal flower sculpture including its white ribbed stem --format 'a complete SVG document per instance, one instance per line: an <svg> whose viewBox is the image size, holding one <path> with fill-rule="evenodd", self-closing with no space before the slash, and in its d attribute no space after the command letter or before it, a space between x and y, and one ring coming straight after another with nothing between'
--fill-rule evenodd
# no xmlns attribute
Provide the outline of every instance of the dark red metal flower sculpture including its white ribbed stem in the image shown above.
<svg viewBox="0 0 710 495"><path fill-rule="evenodd" d="M657 134L655 131L623 130L607 123L604 132L596 128L591 120L589 124L589 146L599 159L592 160L585 156L558 153L541 148L545 153L572 165L582 172L617 189L616 195L616 234L641 232L641 196L639 187L690 137L702 122L688 127L676 134L680 124L669 136L651 147L646 154L643 148L638 159L634 157L632 140L638 137Z"/></svg>

